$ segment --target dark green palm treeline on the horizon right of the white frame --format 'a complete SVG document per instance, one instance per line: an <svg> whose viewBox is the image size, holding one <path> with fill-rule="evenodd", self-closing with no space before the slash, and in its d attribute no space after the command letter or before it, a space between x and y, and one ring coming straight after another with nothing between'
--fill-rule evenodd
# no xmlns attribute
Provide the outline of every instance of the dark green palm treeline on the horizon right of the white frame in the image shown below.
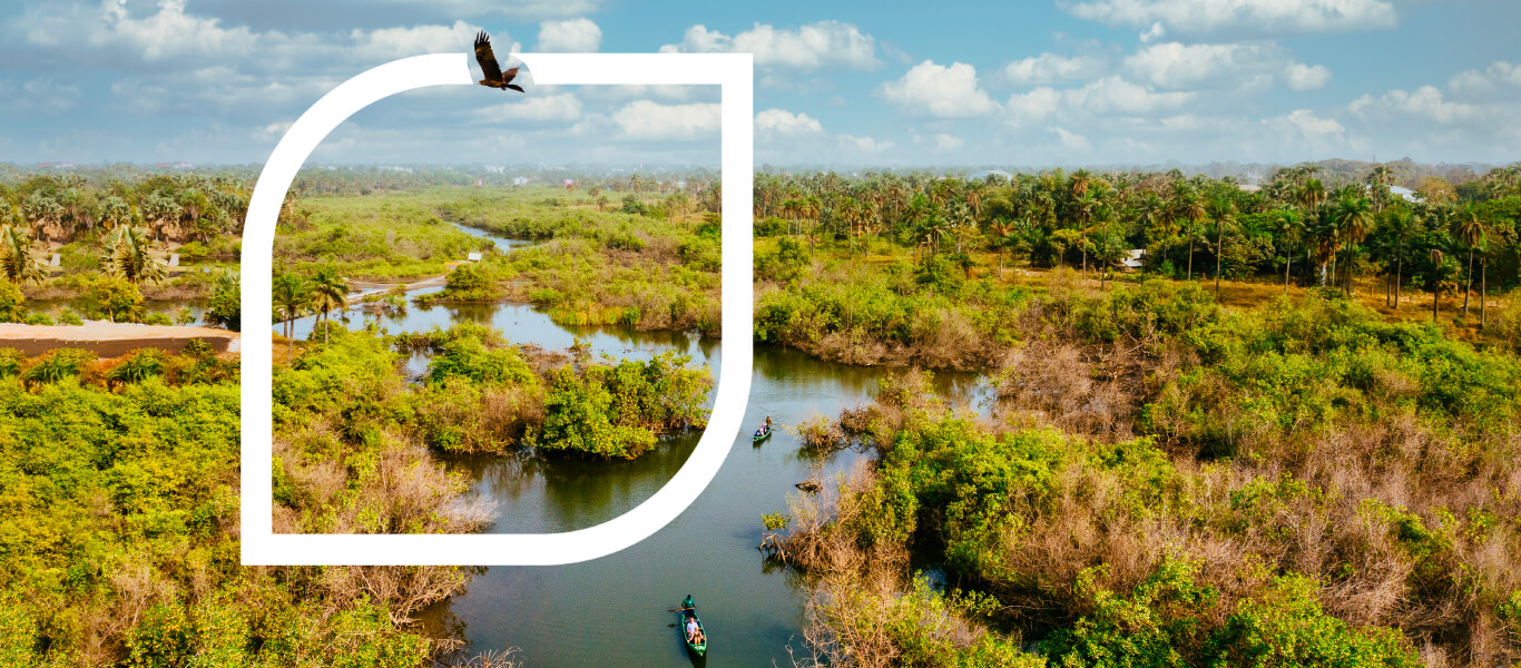
<svg viewBox="0 0 1521 668"><path fill-rule="evenodd" d="M760 175L757 236L914 247L963 266L1001 263L1107 271L1138 260L1168 277L1272 277L1384 289L1481 291L1521 280L1521 164L1463 183L1422 178L1392 189L1392 166L1325 173L1281 167L1261 186L1182 172L1019 173L980 181L929 173ZM1135 250L1144 251L1139 259ZM1466 301L1465 301L1466 304ZM1465 306L1466 310L1466 306Z"/></svg>

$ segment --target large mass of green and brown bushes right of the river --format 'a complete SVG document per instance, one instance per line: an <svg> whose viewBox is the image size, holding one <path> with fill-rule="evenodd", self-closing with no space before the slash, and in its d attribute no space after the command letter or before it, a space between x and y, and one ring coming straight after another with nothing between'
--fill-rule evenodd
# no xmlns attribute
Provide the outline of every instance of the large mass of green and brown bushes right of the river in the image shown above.
<svg viewBox="0 0 1521 668"><path fill-rule="evenodd" d="M1031 303L1043 336L1171 358L1124 385L1145 397L1139 434L1030 428L1042 417L1018 405L989 423L920 376L884 382L838 423L875 447L873 470L788 554L834 578L850 560L818 545L907 548L1071 666L1413 666L1416 644L1518 656L1521 364L1343 300L1220 312L1200 297L1148 283ZM823 638L853 642L847 621Z"/></svg>

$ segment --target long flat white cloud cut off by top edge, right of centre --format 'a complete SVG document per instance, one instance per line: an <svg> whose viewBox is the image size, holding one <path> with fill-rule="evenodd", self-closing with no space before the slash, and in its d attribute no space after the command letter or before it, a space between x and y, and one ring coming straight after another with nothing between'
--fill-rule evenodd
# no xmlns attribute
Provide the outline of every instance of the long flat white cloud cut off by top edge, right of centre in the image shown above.
<svg viewBox="0 0 1521 668"><path fill-rule="evenodd" d="M1389 0L1060 0L1078 18L1110 26L1156 26L1192 37L1281 37L1389 29Z"/></svg>

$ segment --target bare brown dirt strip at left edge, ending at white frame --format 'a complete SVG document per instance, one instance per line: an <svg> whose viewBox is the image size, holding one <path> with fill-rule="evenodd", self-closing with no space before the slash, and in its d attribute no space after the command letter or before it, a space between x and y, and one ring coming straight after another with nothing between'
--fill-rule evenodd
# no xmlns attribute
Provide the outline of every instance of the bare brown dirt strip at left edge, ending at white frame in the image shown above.
<svg viewBox="0 0 1521 668"><path fill-rule="evenodd" d="M84 348L102 358L119 358L137 348L179 353L192 339L211 344L218 353L237 353L237 332L213 327L175 327L132 323L85 321L84 326L0 324L0 348L35 356L55 348Z"/></svg>

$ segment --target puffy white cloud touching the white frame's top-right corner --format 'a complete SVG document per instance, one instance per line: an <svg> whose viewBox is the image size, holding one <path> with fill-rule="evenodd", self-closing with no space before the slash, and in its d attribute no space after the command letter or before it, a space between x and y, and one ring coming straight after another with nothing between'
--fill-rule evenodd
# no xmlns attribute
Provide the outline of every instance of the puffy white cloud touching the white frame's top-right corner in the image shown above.
<svg viewBox="0 0 1521 668"><path fill-rule="evenodd" d="M666 44L662 53L754 53L760 67L794 70L846 68L870 70L876 59L876 40L850 23L818 21L797 29L777 29L756 23L750 30L724 35L707 26L686 29L681 44Z"/></svg>

